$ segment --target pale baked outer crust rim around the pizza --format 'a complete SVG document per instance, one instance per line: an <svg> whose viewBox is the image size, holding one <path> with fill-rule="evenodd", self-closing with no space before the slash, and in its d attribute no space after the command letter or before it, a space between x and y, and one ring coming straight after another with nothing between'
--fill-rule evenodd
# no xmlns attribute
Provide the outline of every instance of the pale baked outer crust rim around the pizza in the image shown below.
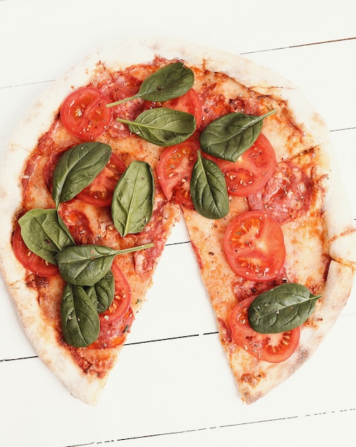
<svg viewBox="0 0 356 447"><path fill-rule="evenodd" d="M310 104L301 95L300 90L275 74L270 69L257 66L252 61L240 56L227 54L205 47L190 46L183 41L169 41L167 39L142 39L120 41L102 46L76 64L51 88L44 92L39 101L16 130L9 147L1 159L0 164L0 194L2 201L2 219L0 221L0 268L4 281L19 312L24 331L36 349L39 357L59 377L71 393L86 403L96 403L106 378L99 379L84 374L74 365L68 352L57 346L58 342L54 330L41 320L38 313L37 295L26 287L26 274L11 250L12 219L21 205L21 176L24 161L31 153L39 137L49 129L64 97L72 89L89 83L97 71L98 64L104 64L109 70L124 69L132 64L152 61L154 56L167 59L182 59L192 64L212 71L221 71L237 79L241 84L263 95L273 95L283 101L292 114L292 120L300 126L304 143L310 148L320 146L327 157L332 154L328 143L328 131L325 122L315 113ZM266 124L272 144L277 147L277 156L285 151L283 141L273 129ZM326 165L325 165L326 166ZM340 197L344 196L341 182L337 181L337 173L332 164L328 173L330 186L326 186L325 216L328 234L330 256L335 260L330 263L330 269L325 284L325 300L320 311L313 318L322 318L322 324L303 331L300 347L285 363L280 365L263 365L264 373L268 374L267 381L251 386L251 383L241 380L244 358L239 353L228 353L232 364L242 399L252 403L264 396L268 391L289 377L310 357L317 344L329 331L332 323L342 310L352 286L354 263L356 262L355 228L350 224L349 216L343 211L349 211L344 206L340 212ZM328 170L328 169L327 169ZM17 179L16 184L14 179ZM9 188L11 185L11 188ZM337 188L336 188L336 186ZM199 241L197 241L199 243ZM199 247L198 247L199 248ZM208 282L209 280L207 280ZM26 296L26 300L24 300ZM337 300L335 301L335 296ZM333 298L333 299L332 299ZM335 305L335 302L337 303ZM53 346L57 346L56 349ZM113 354L117 356L116 352ZM241 361L241 359L243 361ZM250 364L255 363L249 358ZM259 366L260 367L260 366Z"/></svg>

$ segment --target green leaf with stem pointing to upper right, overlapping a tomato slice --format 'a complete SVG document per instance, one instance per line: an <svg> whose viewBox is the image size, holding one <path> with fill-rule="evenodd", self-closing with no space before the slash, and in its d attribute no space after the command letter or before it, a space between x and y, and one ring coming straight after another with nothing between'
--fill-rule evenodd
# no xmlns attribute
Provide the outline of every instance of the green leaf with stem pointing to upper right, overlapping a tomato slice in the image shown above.
<svg viewBox="0 0 356 447"><path fill-rule="evenodd" d="M261 116L240 112L221 116L202 131L200 147L202 151L219 159L237 161L257 140L264 118L273 113L275 110Z"/></svg>

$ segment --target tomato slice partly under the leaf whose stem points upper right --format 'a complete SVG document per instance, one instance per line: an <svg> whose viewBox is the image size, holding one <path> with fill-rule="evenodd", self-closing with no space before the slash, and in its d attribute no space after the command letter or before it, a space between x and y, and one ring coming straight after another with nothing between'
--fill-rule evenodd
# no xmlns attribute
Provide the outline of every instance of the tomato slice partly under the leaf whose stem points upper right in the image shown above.
<svg viewBox="0 0 356 447"><path fill-rule="evenodd" d="M235 162L217 159L209 154L203 156L214 161L222 170L230 196L247 197L259 191L277 166L275 150L263 134L259 134L254 144Z"/></svg>

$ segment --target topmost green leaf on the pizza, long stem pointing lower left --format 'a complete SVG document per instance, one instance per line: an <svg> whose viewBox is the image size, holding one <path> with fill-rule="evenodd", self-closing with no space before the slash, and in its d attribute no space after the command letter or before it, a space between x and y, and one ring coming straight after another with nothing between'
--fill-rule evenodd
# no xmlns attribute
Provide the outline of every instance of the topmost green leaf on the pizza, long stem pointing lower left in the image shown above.
<svg viewBox="0 0 356 447"><path fill-rule="evenodd" d="M182 62L176 62L158 69L145 79L134 96L108 104L107 107L117 106L132 99L143 98L146 101L169 101L178 98L192 89L194 73Z"/></svg>

